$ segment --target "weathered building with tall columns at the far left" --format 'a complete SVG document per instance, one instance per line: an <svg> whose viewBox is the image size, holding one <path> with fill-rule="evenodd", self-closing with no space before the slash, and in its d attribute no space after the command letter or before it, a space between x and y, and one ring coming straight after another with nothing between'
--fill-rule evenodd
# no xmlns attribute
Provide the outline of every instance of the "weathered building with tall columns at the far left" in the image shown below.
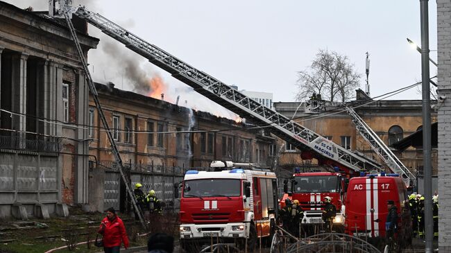
<svg viewBox="0 0 451 253"><path fill-rule="evenodd" d="M0 218L87 203L87 87L65 23L0 2ZM85 55L99 40L74 19Z"/></svg>

